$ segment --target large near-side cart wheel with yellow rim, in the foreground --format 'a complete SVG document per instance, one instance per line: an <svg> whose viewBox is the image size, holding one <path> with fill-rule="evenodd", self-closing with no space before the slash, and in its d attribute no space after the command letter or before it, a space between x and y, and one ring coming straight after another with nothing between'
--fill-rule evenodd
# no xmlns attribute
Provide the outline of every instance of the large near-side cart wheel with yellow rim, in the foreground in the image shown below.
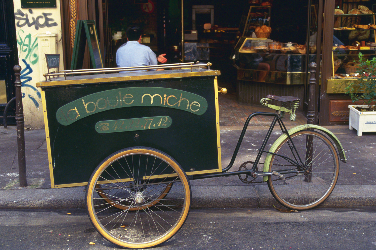
<svg viewBox="0 0 376 250"><path fill-rule="evenodd" d="M108 241L148 248L182 227L190 210L191 186L180 165L162 151L127 148L96 168L86 202L92 224Z"/></svg>

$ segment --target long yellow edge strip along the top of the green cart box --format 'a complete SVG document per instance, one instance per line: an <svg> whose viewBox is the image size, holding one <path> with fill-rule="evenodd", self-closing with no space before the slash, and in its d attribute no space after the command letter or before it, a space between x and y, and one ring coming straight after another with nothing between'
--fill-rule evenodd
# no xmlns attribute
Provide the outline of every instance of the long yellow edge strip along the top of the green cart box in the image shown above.
<svg viewBox="0 0 376 250"><path fill-rule="evenodd" d="M164 79L164 78L182 78L191 76L208 76L208 75L220 75L220 70L200 71L200 72L184 72L184 73L171 73L160 75L142 75L142 76L118 76L108 78L90 78L90 79L75 79L67 81L42 81L36 84L36 87L54 87L64 85L83 85L83 84L100 84L104 82L118 82L118 81L139 81L150 79ZM77 76L76 78L79 78Z"/></svg>

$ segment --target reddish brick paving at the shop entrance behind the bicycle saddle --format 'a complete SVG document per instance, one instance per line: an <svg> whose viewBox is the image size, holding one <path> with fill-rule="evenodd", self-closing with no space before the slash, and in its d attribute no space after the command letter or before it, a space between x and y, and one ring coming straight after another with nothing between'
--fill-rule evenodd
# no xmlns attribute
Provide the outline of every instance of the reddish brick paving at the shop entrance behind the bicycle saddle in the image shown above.
<svg viewBox="0 0 376 250"><path fill-rule="evenodd" d="M247 117L253 112L274 112L273 109L262 105L241 105L236 100L236 94L230 92L218 94L219 125L220 126L244 126ZM250 125L269 127L272 117L257 116L252 118ZM306 124L307 119L302 113L297 113L295 121L291 121L286 115L283 119L286 126Z"/></svg>

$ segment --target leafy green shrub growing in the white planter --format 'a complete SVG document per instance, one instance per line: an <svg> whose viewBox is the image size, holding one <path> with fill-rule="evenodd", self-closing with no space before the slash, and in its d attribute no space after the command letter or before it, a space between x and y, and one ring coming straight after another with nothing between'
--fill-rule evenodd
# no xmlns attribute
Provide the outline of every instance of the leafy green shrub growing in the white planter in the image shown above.
<svg viewBox="0 0 376 250"><path fill-rule="evenodd" d="M346 93L351 97L352 102L363 102L368 106L367 111L376 111L376 58L368 60L362 53L358 55L356 73L361 78L351 81L346 87ZM355 60L354 60L355 62Z"/></svg>

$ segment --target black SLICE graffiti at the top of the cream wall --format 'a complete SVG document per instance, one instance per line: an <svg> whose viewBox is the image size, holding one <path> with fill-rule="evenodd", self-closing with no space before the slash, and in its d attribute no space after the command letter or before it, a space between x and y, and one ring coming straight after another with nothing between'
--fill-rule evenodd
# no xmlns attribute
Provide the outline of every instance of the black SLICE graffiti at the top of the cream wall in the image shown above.
<svg viewBox="0 0 376 250"><path fill-rule="evenodd" d="M33 14L33 10L29 9L29 13ZM27 27L32 27L34 26L36 30L39 28L44 28L44 27L53 27L53 26L58 26L55 20L53 18L49 18L52 13L42 13L42 15L39 16L32 16L31 19L32 21L30 22L29 15L27 13L24 13L22 10L18 9L17 12L14 13L14 18L16 19L16 25L17 27L24 27L27 25Z"/></svg>

